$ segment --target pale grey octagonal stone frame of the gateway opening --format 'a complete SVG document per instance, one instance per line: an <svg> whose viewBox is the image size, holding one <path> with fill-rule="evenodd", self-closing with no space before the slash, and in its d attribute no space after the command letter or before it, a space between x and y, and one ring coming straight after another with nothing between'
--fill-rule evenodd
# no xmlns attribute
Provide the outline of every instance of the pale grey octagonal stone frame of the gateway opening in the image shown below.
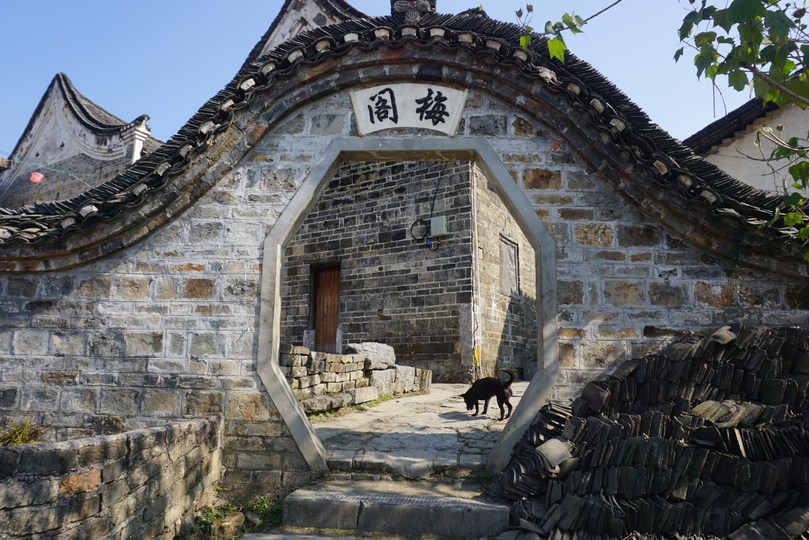
<svg viewBox="0 0 809 540"><path fill-rule="evenodd" d="M464 139L336 139L264 240L261 273L257 372L304 459L313 471L326 471L326 450L278 366L281 329L281 281L284 248L292 240L346 161L474 161L517 221L536 253L537 373L488 457L488 469L500 472L514 445L550 397L559 372L556 343L556 243L491 145L482 138Z"/></svg>

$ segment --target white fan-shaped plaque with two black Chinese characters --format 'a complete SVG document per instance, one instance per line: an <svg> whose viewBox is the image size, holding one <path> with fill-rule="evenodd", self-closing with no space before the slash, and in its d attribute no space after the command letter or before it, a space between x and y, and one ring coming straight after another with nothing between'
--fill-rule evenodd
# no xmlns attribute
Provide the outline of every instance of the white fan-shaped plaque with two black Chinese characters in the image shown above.
<svg viewBox="0 0 809 540"><path fill-rule="evenodd" d="M396 83L351 92L360 135L389 128L426 128L454 136L467 90Z"/></svg>

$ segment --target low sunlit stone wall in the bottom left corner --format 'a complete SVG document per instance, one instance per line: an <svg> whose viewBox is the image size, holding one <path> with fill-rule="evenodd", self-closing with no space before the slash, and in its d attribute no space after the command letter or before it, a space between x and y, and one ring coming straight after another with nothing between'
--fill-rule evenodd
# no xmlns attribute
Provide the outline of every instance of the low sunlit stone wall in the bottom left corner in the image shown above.
<svg viewBox="0 0 809 540"><path fill-rule="evenodd" d="M171 540L214 498L222 419L0 448L0 536Z"/></svg>

